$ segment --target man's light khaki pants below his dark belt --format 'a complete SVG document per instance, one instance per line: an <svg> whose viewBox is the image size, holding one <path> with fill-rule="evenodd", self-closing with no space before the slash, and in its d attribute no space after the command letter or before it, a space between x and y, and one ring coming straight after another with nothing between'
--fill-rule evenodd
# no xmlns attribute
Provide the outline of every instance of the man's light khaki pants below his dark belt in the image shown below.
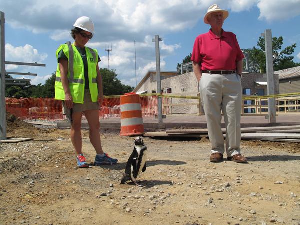
<svg viewBox="0 0 300 225"><path fill-rule="evenodd" d="M240 153L241 77L238 74L203 73L200 95L207 120L211 152L224 153L221 111L226 127L226 152L229 157Z"/></svg>

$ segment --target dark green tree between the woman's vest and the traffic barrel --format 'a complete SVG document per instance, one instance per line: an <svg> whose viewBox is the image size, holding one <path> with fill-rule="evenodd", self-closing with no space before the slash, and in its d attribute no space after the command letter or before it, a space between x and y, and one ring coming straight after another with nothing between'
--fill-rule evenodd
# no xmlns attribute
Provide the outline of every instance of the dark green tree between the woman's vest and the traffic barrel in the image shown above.
<svg viewBox="0 0 300 225"><path fill-rule="evenodd" d="M121 95L131 92L134 88L128 85L124 85L117 78L115 70L108 70L106 68L100 68L103 82L103 94L109 95Z"/></svg>

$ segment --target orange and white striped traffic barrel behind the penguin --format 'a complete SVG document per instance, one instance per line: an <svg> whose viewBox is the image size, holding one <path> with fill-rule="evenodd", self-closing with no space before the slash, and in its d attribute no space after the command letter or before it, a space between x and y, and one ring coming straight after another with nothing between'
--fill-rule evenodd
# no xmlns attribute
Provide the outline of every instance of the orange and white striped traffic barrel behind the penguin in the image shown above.
<svg viewBox="0 0 300 225"><path fill-rule="evenodd" d="M121 95L121 132L120 136L143 135L144 125L142 120L140 97L131 92Z"/></svg>

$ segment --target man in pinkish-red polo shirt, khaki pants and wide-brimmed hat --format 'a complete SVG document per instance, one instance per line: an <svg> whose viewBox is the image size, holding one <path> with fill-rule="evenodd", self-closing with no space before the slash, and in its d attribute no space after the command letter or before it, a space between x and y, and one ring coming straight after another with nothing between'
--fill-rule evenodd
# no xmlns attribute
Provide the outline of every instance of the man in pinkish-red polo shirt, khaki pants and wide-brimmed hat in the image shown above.
<svg viewBox="0 0 300 225"><path fill-rule="evenodd" d="M194 43L191 60L199 81L200 96L211 142L211 162L223 161L224 137L221 111L226 126L228 160L246 163L240 154L241 73L244 55L235 34L222 29L228 11L211 5L204 17L209 32L199 35Z"/></svg>

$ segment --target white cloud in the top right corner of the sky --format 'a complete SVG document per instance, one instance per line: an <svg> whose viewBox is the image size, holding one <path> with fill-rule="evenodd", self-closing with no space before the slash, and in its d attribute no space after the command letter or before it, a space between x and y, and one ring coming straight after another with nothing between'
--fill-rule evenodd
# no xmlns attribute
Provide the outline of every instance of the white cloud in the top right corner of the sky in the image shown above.
<svg viewBox="0 0 300 225"><path fill-rule="evenodd" d="M300 15L300 0L259 0L259 19L269 22L285 20Z"/></svg>

